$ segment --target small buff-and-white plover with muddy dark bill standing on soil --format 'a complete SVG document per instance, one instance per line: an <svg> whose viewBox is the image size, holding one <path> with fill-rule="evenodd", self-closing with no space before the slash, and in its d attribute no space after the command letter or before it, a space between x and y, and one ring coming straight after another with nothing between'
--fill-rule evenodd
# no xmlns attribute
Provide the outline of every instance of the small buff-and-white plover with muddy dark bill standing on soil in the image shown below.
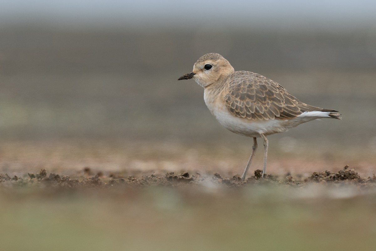
<svg viewBox="0 0 376 251"><path fill-rule="evenodd" d="M269 78L251 71L235 71L218 53L201 56L193 65L193 71L178 80L182 79L194 79L204 88L205 104L222 126L253 138L252 152L241 176L243 181L258 147L257 138L261 138L264 145L264 177L268 135L286 132L315 119L342 119L336 110L301 102Z"/></svg>

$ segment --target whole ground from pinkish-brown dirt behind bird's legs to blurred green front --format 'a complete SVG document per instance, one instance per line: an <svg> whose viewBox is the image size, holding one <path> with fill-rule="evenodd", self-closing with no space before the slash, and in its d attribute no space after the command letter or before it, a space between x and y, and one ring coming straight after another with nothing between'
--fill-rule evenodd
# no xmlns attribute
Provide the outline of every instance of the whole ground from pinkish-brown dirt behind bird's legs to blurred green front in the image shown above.
<svg viewBox="0 0 376 251"><path fill-rule="evenodd" d="M0 146L3 250L346 251L376 245L376 177L366 175L371 157L272 154L264 178L256 158L242 181L237 173L246 151ZM339 167L346 162L355 164Z"/></svg>

